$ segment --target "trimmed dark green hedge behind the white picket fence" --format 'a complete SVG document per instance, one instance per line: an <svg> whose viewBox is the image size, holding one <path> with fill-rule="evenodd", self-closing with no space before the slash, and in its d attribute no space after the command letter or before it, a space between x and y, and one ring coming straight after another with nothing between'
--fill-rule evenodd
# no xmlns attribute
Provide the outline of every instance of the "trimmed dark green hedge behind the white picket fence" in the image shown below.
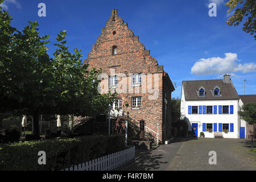
<svg viewBox="0 0 256 182"><path fill-rule="evenodd" d="M0 144L2 170L59 170L125 149L124 135L43 139ZM39 165L39 151L46 152L46 165Z"/></svg>

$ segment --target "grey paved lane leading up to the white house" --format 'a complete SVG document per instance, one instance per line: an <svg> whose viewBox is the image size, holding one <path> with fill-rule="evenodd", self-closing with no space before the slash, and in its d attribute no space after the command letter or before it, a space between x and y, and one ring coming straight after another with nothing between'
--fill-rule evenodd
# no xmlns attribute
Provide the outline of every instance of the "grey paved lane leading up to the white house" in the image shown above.
<svg viewBox="0 0 256 182"><path fill-rule="evenodd" d="M249 150L250 140L246 139L180 138L155 148L119 170L256 171L256 153ZM216 165L209 164L209 151L216 151Z"/></svg>

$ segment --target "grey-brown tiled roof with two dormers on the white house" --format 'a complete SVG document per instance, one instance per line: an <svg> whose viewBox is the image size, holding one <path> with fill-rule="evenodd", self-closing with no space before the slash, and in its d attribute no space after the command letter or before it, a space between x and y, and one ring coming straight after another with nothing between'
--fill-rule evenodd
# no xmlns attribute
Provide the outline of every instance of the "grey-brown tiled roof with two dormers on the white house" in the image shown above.
<svg viewBox="0 0 256 182"><path fill-rule="evenodd" d="M237 90L230 79L230 83L224 83L220 80L191 80L182 81L186 101L201 101L201 100L238 100L240 97ZM214 96L213 90L220 89L220 96ZM199 96L199 89L205 89L205 96Z"/></svg>

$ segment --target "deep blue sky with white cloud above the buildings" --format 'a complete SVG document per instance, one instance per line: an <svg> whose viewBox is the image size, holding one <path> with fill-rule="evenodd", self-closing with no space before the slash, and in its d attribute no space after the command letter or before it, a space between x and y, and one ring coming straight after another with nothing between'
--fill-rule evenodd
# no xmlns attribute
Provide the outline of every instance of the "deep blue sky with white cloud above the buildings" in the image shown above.
<svg viewBox="0 0 256 182"><path fill-rule="evenodd" d="M46 4L46 17L38 16L38 4ZM208 15L215 2L217 16ZM112 9L164 66L180 97L183 80L219 79L225 73L238 94L256 94L256 43L241 26L229 27L228 7L223 0L167 1L57 1L5 0L2 4L13 16L12 26L22 30L28 20L38 20L40 35L49 35L49 54L55 51L56 35L67 30L70 48L79 48L86 59L105 27Z"/></svg>

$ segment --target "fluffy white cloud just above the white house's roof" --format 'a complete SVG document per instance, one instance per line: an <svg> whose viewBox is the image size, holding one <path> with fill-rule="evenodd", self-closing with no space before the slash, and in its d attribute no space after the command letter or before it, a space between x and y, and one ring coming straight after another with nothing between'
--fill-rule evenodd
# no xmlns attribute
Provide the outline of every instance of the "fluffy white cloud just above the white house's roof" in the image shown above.
<svg viewBox="0 0 256 182"><path fill-rule="evenodd" d="M235 72L256 72L255 63L238 64L236 53L225 53L225 57L209 57L198 60L191 68L194 75L234 74Z"/></svg>

